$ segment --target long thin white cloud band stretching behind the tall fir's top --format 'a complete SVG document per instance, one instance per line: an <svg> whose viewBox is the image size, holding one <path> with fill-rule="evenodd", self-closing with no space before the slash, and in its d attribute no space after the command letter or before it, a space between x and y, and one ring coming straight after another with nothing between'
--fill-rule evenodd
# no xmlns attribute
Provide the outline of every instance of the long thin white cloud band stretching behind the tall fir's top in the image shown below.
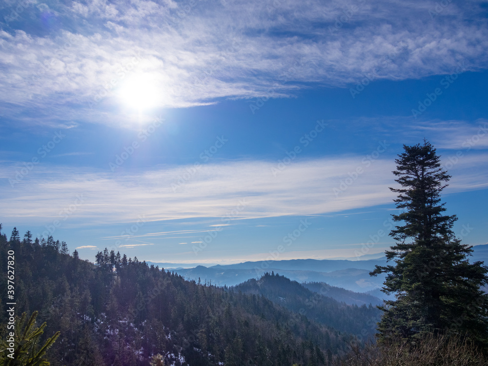
<svg viewBox="0 0 488 366"><path fill-rule="evenodd" d="M391 174L394 162L380 157L367 166L363 159L356 156L295 161L276 176L272 168L277 163L273 162L208 164L176 192L171 185L175 177L185 172L184 166L126 176L69 168L41 172L39 167L36 176L26 177L14 188L5 184L0 207L16 223L42 224L60 220L59 212L69 207L78 194L84 200L63 225L133 223L138 215L145 222L220 218L227 224L227 220L315 215L391 203L394 194L388 187L396 184ZM472 152L447 166L453 178L446 193L486 188L487 162L486 153ZM360 171L358 168L363 168L363 172L354 173ZM182 234L195 232L202 230L133 237L183 237Z"/></svg>

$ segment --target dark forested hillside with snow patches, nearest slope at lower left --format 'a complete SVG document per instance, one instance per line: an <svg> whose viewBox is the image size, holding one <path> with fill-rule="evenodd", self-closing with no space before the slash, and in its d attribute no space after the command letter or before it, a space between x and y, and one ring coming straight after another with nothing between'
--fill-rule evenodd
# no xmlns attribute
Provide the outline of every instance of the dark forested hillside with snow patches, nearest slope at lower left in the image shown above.
<svg viewBox="0 0 488 366"><path fill-rule="evenodd" d="M347 335L263 296L185 281L137 258L105 250L92 264L52 237L21 241L16 230L9 241L0 235L1 263L8 250L17 315L39 311L44 339L61 331L48 351L54 366L142 366L157 353L166 365L328 365L346 349Z"/></svg>

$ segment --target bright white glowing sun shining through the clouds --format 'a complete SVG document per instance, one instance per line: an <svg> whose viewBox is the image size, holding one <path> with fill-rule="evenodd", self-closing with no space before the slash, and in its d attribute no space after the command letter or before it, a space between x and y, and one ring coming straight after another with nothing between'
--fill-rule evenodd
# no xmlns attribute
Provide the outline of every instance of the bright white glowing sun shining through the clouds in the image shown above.
<svg viewBox="0 0 488 366"><path fill-rule="evenodd" d="M151 75L137 74L123 81L119 98L124 106L142 111L158 106L162 93Z"/></svg>

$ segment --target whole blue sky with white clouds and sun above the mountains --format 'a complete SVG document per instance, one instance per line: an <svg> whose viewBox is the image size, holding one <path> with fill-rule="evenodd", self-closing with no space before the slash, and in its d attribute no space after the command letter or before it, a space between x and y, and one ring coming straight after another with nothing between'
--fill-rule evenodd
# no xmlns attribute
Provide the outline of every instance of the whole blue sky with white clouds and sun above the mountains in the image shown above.
<svg viewBox="0 0 488 366"><path fill-rule="evenodd" d="M0 223L183 265L383 253L403 145L488 241L487 1L0 4ZM369 258L369 257L364 257Z"/></svg>

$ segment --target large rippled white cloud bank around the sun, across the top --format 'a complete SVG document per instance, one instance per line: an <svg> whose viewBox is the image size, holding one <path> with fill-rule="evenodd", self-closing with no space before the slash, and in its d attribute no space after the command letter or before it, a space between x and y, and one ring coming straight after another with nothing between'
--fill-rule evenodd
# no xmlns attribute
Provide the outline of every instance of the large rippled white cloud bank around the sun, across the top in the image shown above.
<svg viewBox="0 0 488 366"><path fill-rule="evenodd" d="M482 3L451 2L433 20L435 1L58 5L59 20L79 24L80 33L0 31L0 114L19 120L23 112L24 122L48 124L80 117L124 123L131 113L116 89L134 73L151 76L161 106L185 107L291 96L303 82L346 86L365 73L420 78L452 73L462 62L479 70L488 61Z"/></svg>

